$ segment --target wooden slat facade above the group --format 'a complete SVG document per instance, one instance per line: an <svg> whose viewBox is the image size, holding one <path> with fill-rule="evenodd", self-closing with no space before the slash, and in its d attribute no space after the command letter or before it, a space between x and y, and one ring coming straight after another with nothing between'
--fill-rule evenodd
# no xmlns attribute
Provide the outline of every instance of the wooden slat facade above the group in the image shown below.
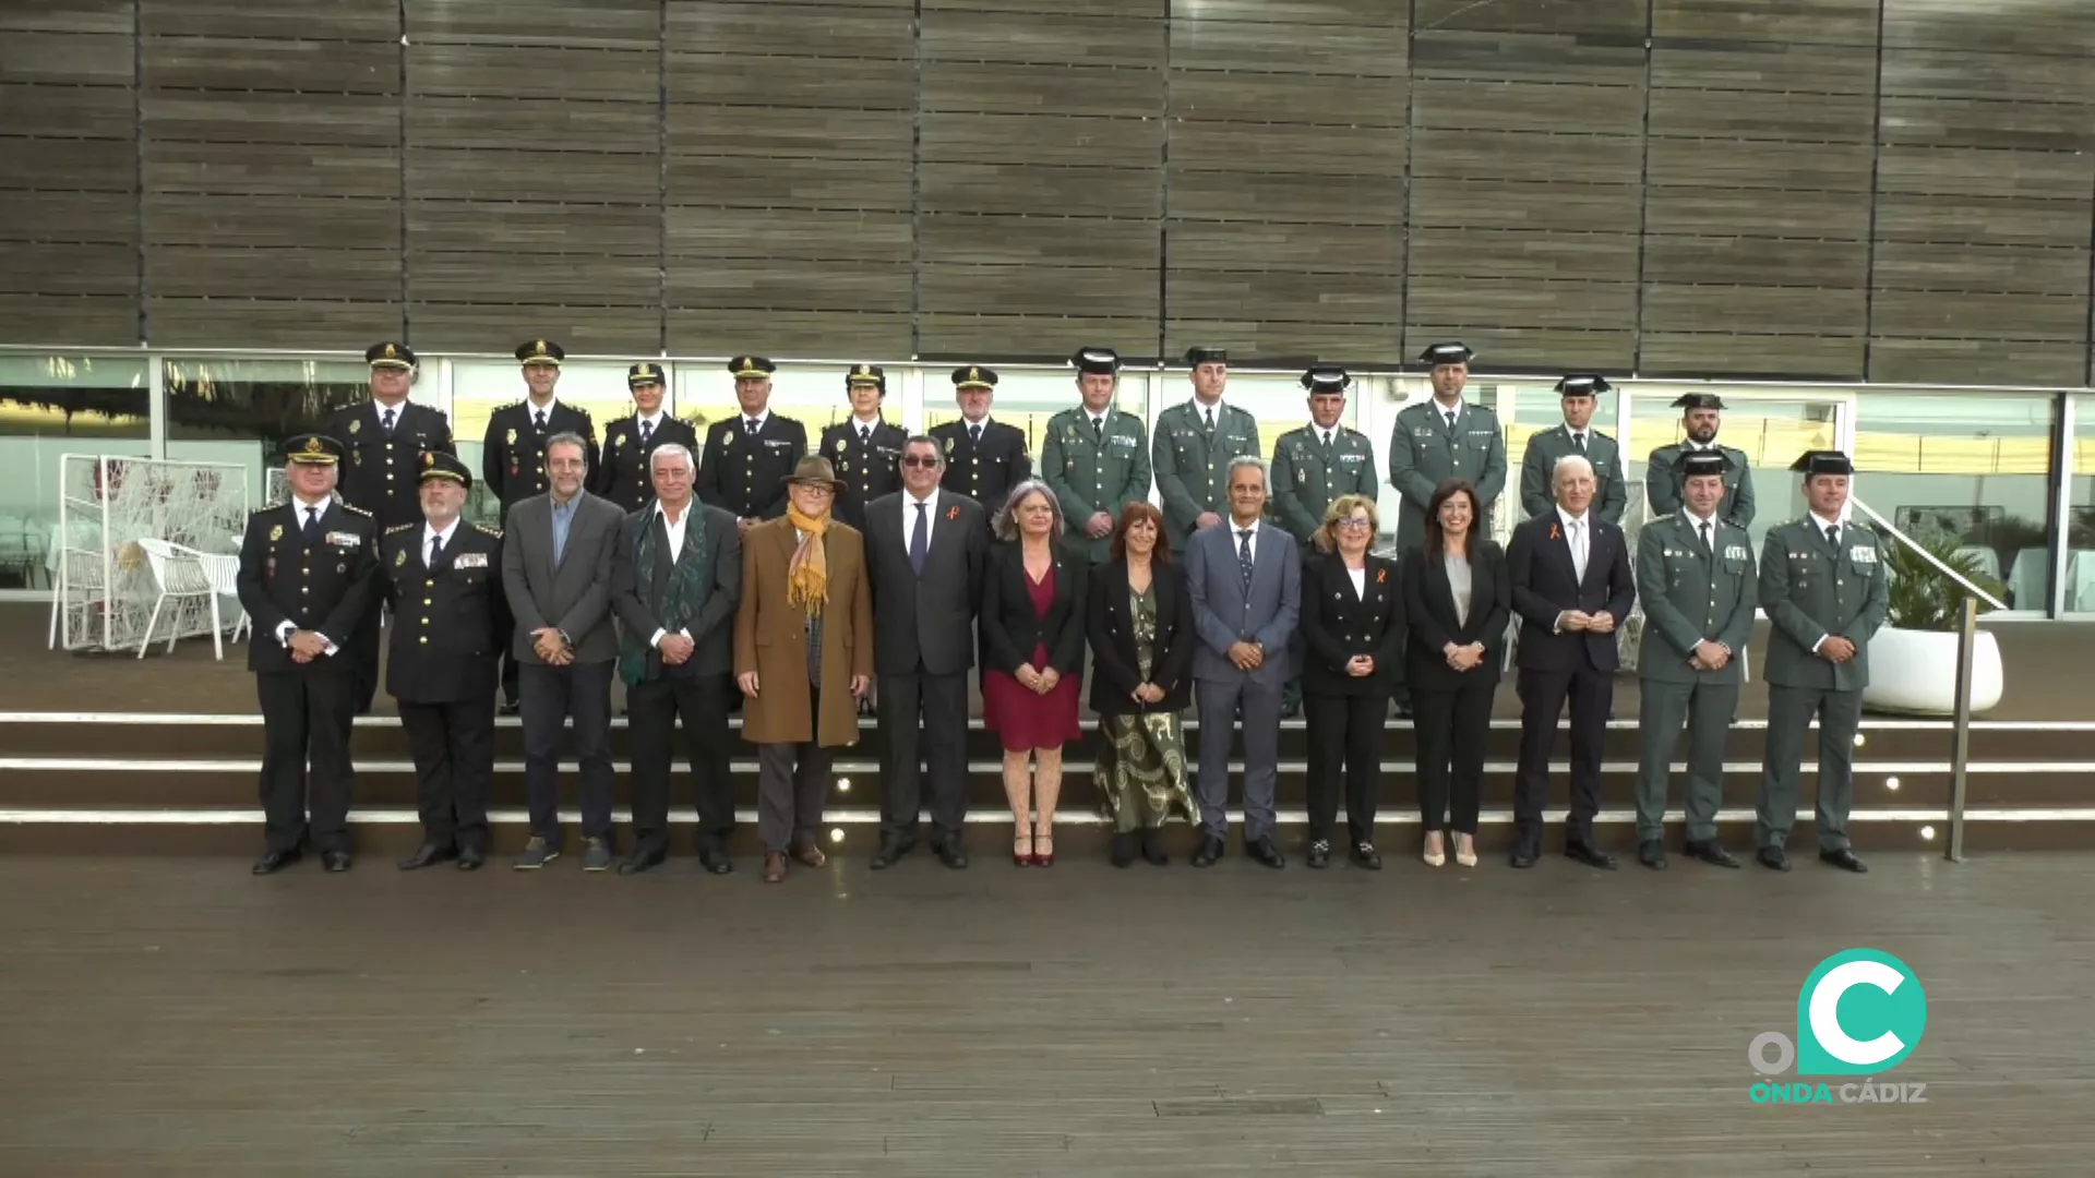
<svg viewBox="0 0 2095 1178"><path fill-rule="evenodd" d="M0 342L2091 379L2095 8L0 8Z"/></svg>

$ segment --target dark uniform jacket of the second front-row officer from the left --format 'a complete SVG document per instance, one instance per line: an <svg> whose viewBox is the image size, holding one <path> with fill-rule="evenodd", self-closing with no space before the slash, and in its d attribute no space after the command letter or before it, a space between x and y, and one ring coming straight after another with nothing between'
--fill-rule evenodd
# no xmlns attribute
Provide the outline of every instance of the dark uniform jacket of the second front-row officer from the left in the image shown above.
<svg viewBox="0 0 2095 1178"><path fill-rule="evenodd" d="M394 612L385 690L411 704L492 700L509 631L503 535L459 520L432 568L425 524L398 524L379 541L379 587Z"/></svg>

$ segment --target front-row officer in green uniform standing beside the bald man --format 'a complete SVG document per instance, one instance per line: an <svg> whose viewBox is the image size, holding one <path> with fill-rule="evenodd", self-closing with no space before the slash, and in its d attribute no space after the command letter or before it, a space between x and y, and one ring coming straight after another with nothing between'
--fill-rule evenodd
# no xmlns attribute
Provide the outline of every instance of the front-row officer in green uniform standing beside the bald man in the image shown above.
<svg viewBox="0 0 2095 1178"><path fill-rule="evenodd" d="M1636 587L1645 599L1645 643L1636 656L1636 727L1645 755L1636 771L1636 859L1666 866L1666 778L1689 727L1686 851L1737 868L1716 841L1724 794L1724 738L1739 708L1743 662L1754 635L1760 583L1754 539L1716 516L1724 501L1724 455L1680 459L1686 505L1651 520L1636 537Z"/></svg>

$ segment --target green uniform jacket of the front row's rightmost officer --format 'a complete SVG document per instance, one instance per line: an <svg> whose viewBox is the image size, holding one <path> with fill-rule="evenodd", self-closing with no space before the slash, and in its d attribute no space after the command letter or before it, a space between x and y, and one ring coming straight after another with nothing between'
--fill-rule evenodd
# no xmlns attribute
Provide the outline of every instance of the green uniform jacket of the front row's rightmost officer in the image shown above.
<svg viewBox="0 0 2095 1178"><path fill-rule="evenodd" d="M1827 547L1810 516L1768 532L1760 549L1760 608L1774 623L1768 631L1768 683L1835 692L1869 685L1869 637L1892 612L1892 581L1883 568L1883 543L1869 528L1844 524L1839 547ZM1835 664L1812 654L1827 635L1852 641L1854 658Z"/></svg>

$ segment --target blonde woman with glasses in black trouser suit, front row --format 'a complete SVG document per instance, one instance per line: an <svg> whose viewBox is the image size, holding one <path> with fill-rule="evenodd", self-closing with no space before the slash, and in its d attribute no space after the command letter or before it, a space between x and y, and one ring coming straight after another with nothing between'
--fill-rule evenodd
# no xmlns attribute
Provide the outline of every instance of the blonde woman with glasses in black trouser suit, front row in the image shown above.
<svg viewBox="0 0 2095 1178"><path fill-rule="evenodd" d="M1330 824L1345 776L1349 855L1381 868L1374 794L1383 725L1404 650L1404 583L1397 562L1368 553L1374 501L1341 495L1324 511L1303 562L1303 715L1309 719L1309 866L1330 864Z"/></svg>

